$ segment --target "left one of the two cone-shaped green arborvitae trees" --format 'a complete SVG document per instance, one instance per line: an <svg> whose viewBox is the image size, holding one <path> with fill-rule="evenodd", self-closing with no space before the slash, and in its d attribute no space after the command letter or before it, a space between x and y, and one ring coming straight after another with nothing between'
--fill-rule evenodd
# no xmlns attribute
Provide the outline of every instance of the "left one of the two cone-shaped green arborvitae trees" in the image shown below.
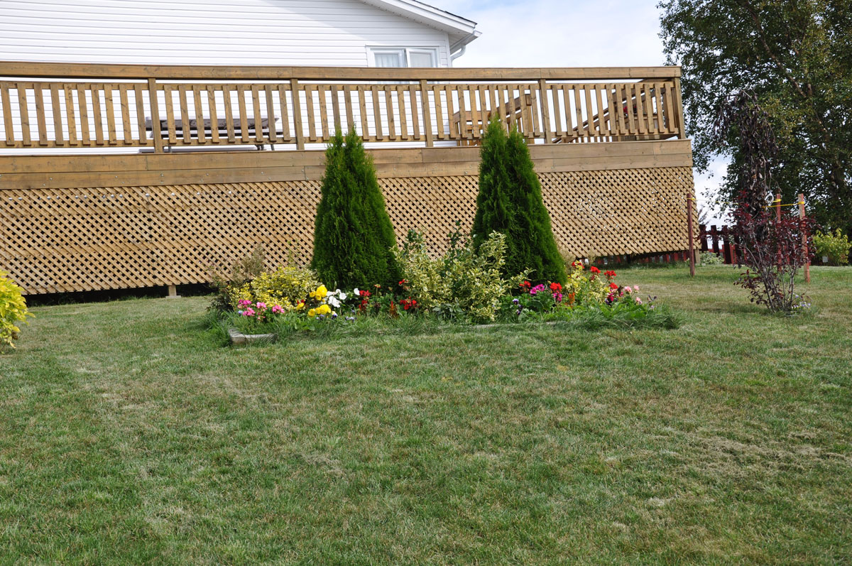
<svg viewBox="0 0 852 566"><path fill-rule="evenodd" d="M395 283L400 278L390 251L395 244L394 228L364 142L354 129L345 139L337 130L325 151L311 267L328 286Z"/></svg>

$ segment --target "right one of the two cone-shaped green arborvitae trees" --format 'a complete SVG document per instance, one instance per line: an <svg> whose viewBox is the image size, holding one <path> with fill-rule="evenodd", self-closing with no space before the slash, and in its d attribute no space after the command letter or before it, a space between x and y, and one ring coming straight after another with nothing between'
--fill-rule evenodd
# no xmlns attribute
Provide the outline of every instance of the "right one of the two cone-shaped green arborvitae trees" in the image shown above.
<svg viewBox="0 0 852 566"><path fill-rule="evenodd" d="M495 230L506 234L506 274L533 269L531 279L538 283L564 283L565 263L550 228L527 140L516 128L507 136L504 125L493 119L482 138L480 155L480 191L472 230L475 244L478 247Z"/></svg>

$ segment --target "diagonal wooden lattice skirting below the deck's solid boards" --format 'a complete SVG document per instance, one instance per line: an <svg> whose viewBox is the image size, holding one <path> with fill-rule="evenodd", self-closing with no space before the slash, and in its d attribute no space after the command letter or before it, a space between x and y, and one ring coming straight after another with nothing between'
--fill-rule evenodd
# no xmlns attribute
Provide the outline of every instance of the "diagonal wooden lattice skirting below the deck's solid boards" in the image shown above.
<svg viewBox="0 0 852 566"><path fill-rule="evenodd" d="M577 256L682 250L689 167L541 175L556 239ZM476 176L382 179L397 237L446 248L469 230ZM265 245L306 262L320 182L0 190L0 268L26 293L200 283L210 266Z"/></svg>

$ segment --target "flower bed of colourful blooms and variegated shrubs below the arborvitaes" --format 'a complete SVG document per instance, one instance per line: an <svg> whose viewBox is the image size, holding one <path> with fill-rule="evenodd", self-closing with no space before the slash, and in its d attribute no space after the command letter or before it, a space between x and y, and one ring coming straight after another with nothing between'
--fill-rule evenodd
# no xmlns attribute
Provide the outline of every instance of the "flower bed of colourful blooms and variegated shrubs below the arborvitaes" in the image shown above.
<svg viewBox="0 0 852 566"><path fill-rule="evenodd" d="M417 240L415 239L415 242ZM676 326L676 319L639 296L639 286L621 285L614 271L571 264L566 284L533 285L528 274L500 274L504 237L493 234L484 249L462 246L446 257L429 257L422 244L396 250L406 279L331 291L309 269L277 269L250 283L226 287L233 305L221 315L244 334L336 332L390 325L489 324L574 321L586 326ZM409 279L410 278L410 279Z"/></svg>

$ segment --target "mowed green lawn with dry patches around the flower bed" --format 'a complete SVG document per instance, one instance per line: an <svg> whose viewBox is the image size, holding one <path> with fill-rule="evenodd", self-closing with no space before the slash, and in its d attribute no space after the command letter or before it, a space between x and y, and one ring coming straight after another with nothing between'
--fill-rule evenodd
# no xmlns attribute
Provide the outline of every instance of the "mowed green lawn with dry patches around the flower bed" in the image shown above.
<svg viewBox="0 0 852 566"><path fill-rule="evenodd" d="M204 297L34 309L0 562L848 563L852 269L795 319L736 273L620 271L676 330L233 349Z"/></svg>

